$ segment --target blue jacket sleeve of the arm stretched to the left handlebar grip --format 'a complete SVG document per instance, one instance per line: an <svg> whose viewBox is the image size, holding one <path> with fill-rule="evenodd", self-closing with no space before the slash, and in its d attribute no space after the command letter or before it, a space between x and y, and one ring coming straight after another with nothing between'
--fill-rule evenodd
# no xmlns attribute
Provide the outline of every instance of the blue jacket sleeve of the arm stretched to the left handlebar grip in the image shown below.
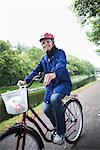
<svg viewBox="0 0 100 150"><path fill-rule="evenodd" d="M35 77L39 72L43 72L43 66L42 66L42 60L38 63L38 65L35 67L35 69L32 70L32 72L25 77L26 83L29 83L33 77Z"/></svg>

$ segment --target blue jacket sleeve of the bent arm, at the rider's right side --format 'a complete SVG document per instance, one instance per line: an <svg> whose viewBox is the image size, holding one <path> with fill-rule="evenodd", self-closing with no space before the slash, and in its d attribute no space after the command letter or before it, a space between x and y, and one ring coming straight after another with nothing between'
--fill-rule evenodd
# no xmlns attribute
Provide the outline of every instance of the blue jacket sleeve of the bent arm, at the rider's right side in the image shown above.
<svg viewBox="0 0 100 150"><path fill-rule="evenodd" d="M63 50L59 50L59 53L56 58L56 66L51 69L51 72L56 73L56 78L58 80L62 80L63 71L66 69L66 64L67 64L67 60L66 60L65 52Z"/></svg>

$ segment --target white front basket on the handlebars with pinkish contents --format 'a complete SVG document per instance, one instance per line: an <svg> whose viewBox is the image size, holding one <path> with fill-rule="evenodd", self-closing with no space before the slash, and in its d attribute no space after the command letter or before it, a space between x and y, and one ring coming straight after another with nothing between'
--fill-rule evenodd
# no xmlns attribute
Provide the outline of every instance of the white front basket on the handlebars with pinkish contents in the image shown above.
<svg viewBox="0 0 100 150"><path fill-rule="evenodd" d="M8 114L21 114L28 110L27 89L10 91L1 94Z"/></svg>

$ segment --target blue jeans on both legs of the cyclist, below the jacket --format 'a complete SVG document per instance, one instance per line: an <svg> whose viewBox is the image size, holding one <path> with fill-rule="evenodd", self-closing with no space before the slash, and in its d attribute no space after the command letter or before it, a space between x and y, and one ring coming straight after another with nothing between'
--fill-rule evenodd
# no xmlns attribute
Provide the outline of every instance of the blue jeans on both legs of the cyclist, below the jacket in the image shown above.
<svg viewBox="0 0 100 150"><path fill-rule="evenodd" d="M64 106L61 102L64 96L65 94L62 93L54 93L50 97L50 103L44 103L44 113L56 128L58 135L62 135L66 131Z"/></svg>

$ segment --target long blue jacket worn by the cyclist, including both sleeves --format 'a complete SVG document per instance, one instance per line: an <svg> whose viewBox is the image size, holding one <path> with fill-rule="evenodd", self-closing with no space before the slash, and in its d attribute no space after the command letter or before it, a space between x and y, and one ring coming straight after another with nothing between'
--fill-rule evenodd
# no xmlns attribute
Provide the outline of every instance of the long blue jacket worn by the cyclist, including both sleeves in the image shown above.
<svg viewBox="0 0 100 150"><path fill-rule="evenodd" d="M44 74L55 72L56 79L52 80L52 82L46 86L44 101L49 103L52 93L70 95L72 83L66 69L66 64L65 52L54 47L51 56L46 53L36 68L25 78L25 81L29 83L39 72L44 72Z"/></svg>

